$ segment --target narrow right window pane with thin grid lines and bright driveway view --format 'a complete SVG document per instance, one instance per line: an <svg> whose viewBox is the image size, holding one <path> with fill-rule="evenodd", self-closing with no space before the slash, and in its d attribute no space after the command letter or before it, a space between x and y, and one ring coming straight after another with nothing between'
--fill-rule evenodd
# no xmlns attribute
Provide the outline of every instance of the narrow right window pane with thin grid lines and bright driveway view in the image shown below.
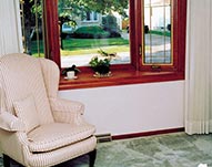
<svg viewBox="0 0 212 167"><path fill-rule="evenodd" d="M144 0L144 64L172 64L171 0Z"/></svg>

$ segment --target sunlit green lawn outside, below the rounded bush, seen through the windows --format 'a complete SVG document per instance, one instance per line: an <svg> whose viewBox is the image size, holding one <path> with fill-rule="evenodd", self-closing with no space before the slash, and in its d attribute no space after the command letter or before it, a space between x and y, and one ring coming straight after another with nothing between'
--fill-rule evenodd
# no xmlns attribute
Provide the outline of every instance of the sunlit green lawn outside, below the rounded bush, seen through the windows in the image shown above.
<svg viewBox="0 0 212 167"><path fill-rule="evenodd" d="M42 44L42 41L40 42ZM41 55L43 55L43 46L40 46ZM129 40L122 38L111 39L65 39L63 40L63 50L61 55L78 55L78 54L95 54L99 49L107 52L125 52L129 51ZM32 54L38 56L37 42L32 41Z"/></svg>

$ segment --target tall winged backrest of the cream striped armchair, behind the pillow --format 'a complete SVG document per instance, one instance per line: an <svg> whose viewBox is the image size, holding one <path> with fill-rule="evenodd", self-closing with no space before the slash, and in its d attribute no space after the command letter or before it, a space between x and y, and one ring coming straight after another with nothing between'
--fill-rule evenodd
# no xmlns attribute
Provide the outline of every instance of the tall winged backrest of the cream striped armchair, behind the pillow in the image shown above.
<svg viewBox="0 0 212 167"><path fill-rule="evenodd" d="M47 67L43 67L43 62L47 61L22 53L0 58L1 101L3 98L1 105L4 105L8 112L14 114L14 102L32 95L41 125L53 122L48 96L55 96L58 91L55 84L59 81L59 79L55 79L54 86L50 86L51 84L48 81L52 80L47 80L44 76L50 77L51 73L43 74L43 69L47 70ZM53 67L53 72L55 72L55 67ZM50 91L53 88L54 91Z"/></svg>

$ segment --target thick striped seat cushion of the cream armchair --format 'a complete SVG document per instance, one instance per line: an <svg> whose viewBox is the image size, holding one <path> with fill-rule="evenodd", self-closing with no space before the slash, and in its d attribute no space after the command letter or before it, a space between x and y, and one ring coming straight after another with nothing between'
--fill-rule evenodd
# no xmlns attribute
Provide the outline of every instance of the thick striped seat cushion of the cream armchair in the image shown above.
<svg viewBox="0 0 212 167"><path fill-rule="evenodd" d="M52 123L41 125L28 134L29 149L32 153L51 152L80 142L93 135L93 125Z"/></svg>

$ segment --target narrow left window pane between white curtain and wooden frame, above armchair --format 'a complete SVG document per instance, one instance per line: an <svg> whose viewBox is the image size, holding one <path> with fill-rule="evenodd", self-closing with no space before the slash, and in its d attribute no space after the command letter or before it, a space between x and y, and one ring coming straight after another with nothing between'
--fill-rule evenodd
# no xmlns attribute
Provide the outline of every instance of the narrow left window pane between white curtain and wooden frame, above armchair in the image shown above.
<svg viewBox="0 0 212 167"><path fill-rule="evenodd" d="M23 51L44 56L42 35L42 0L20 0Z"/></svg>

